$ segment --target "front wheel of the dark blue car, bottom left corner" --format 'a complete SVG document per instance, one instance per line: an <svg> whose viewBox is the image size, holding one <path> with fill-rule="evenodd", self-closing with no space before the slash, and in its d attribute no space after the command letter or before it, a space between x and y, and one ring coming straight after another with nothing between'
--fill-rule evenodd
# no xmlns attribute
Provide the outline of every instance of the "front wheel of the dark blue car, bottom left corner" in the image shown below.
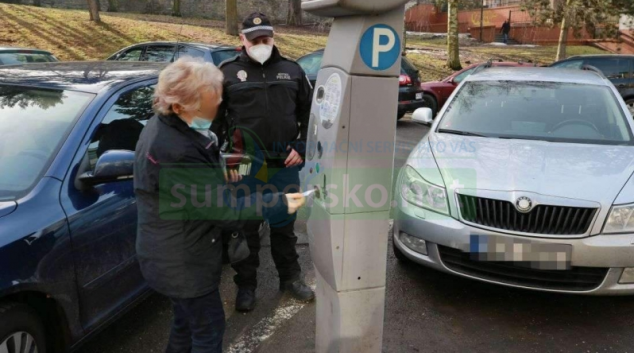
<svg viewBox="0 0 634 353"><path fill-rule="evenodd" d="M0 351L46 353L46 331L35 310L20 303L0 304Z"/></svg>

